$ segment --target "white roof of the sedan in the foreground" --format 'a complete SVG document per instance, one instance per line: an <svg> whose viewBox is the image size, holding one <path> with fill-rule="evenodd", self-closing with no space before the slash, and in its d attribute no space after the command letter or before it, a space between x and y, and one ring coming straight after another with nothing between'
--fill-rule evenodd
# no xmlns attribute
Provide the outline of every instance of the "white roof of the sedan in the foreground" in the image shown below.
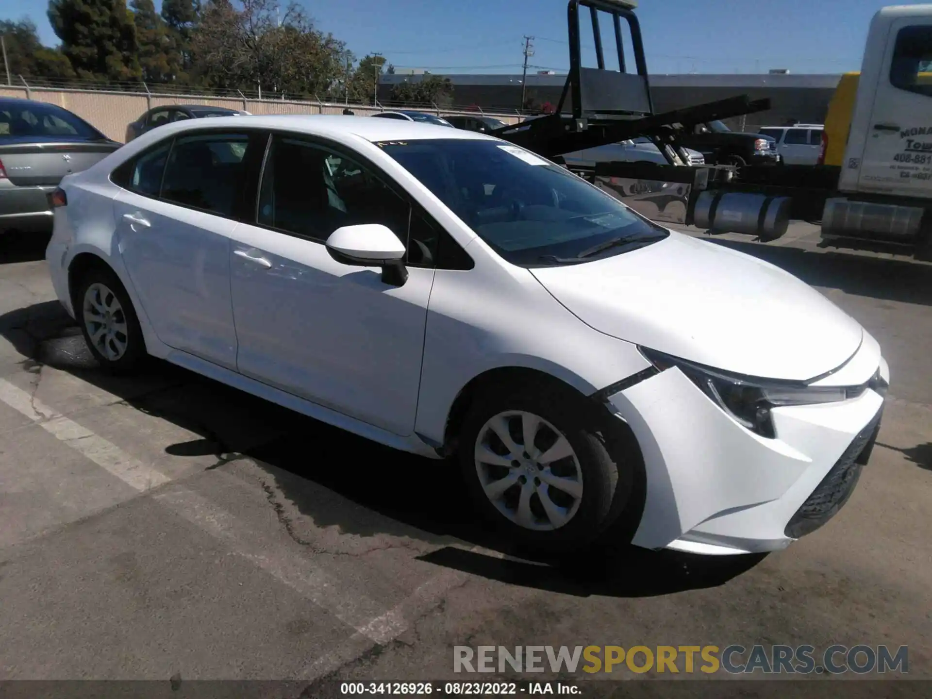
<svg viewBox="0 0 932 699"><path fill-rule="evenodd" d="M210 119L211 129L226 126L241 129L250 126L259 129L291 130L317 136L336 136L352 134L366 141L420 141L424 139L464 139L474 141L495 141L490 136L477 131L450 129L446 126L423 124L416 121L400 119L373 119L349 115L253 115L245 117L216 117ZM159 133L180 130L204 129L199 121L176 121L159 127ZM153 130L152 133L156 133Z"/></svg>

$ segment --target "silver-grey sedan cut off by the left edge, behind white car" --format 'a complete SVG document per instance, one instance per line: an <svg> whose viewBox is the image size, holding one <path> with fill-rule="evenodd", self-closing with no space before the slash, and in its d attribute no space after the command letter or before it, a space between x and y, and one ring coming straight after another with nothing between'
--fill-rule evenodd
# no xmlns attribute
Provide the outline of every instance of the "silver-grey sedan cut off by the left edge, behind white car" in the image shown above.
<svg viewBox="0 0 932 699"><path fill-rule="evenodd" d="M0 98L0 233L48 233L62 177L120 146L55 104Z"/></svg>

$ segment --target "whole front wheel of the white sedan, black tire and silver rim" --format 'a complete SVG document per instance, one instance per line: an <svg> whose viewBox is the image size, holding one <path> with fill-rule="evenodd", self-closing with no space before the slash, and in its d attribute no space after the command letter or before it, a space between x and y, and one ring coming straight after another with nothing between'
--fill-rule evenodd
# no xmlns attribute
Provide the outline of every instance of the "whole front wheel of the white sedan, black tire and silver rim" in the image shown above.
<svg viewBox="0 0 932 699"><path fill-rule="evenodd" d="M583 400L564 391L507 391L475 401L464 420L466 486L487 523L518 549L578 551L624 510L629 464L610 454Z"/></svg>

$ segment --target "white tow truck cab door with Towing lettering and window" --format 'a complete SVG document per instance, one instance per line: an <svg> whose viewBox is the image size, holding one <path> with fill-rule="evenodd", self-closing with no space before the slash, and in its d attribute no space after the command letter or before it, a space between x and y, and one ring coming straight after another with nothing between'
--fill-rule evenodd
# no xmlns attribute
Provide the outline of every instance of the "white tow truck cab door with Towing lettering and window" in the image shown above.
<svg viewBox="0 0 932 699"><path fill-rule="evenodd" d="M932 197L932 17L891 24L857 187Z"/></svg>

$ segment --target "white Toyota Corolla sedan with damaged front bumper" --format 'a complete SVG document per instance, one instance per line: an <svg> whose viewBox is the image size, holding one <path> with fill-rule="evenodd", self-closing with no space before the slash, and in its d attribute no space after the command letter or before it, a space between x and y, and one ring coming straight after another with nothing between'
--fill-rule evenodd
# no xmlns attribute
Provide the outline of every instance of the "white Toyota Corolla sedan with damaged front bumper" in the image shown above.
<svg viewBox="0 0 932 699"><path fill-rule="evenodd" d="M825 297L479 133L191 119L51 199L51 278L103 366L154 355L455 457L477 514L538 550L613 523L781 549L876 437L886 363Z"/></svg>

